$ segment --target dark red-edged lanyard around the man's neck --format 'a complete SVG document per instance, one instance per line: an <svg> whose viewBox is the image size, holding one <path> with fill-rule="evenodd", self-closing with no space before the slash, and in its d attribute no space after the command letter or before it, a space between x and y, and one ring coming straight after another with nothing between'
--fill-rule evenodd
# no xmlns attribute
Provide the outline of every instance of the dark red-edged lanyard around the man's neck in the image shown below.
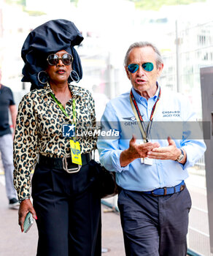
<svg viewBox="0 0 213 256"><path fill-rule="evenodd" d="M132 90L130 92L131 108L133 109L133 113L136 116L136 120L138 121L139 128L142 132L144 142L148 142L147 138L150 135L150 130L151 130L151 127L152 127L152 120L153 120L153 117L154 117L154 114L155 114L155 110L157 109L157 106L158 106L158 102L159 102L159 99L160 99L160 94L161 94L161 89L160 89L159 94L158 94L158 99L157 99L157 101L155 102L155 105L152 108L152 112L151 112L151 115L150 115L150 121L149 121L149 124L147 125L147 129L146 129L145 124L144 124L144 120L143 120L142 115L140 113L140 110L139 110L139 107L137 105L136 99L133 97Z"/></svg>

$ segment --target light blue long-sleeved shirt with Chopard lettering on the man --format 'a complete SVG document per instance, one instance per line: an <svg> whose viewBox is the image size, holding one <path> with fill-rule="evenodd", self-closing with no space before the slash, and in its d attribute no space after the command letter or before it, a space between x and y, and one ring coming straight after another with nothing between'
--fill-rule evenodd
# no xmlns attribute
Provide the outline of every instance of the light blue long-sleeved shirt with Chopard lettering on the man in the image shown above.
<svg viewBox="0 0 213 256"><path fill-rule="evenodd" d="M133 89L133 96L139 106L140 113L144 121L150 120L150 115L155 102L158 99L160 86L154 97L145 99ZM166 124L159 126L160 124ZM174 122L175 121L175 122ZM179 123L177 123L179 121ZM130 102L130 92L121 94L119 97L108 102L104 114L101 118L102 130L114 130L117 136L108 137L106 135L98 138L98 151L100 162L107 170L116 172L116 181L123 189L135 191L150 191L159 187L174 187L187 178L187 167L191 167L201 158L206 150L206 145L201 139L187 137L183 121L196 121L188 99L182 94L166 92L161 89L161 97L158 107L155 108L152 129L150 132L151 142L158 142L160 146L169 146L168 136L174 139L175 132L181 133L179 138L174 139L177 148L183 148L187 154L185 165L173 160L152 159L152 165L145 165L141 159L135 159L125 167L120 166L120 154L129 146L132 135L136 135L136 142L142 143L142 133L136 122ZM169 122L167 124L167 122ZM181 129L169 128L171 123L181 124Z"/></svg>

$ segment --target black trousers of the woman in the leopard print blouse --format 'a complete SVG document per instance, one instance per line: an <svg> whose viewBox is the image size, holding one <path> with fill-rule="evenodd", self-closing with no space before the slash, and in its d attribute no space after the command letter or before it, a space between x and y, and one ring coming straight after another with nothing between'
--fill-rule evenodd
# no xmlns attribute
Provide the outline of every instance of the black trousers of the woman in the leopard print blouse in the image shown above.
<svg viewBox="0 0 213 256"><path fill-rule="evenodd" d="M37 256L101 255L101 200L93 180L90 165L73 174L36 165Z"/></svg>

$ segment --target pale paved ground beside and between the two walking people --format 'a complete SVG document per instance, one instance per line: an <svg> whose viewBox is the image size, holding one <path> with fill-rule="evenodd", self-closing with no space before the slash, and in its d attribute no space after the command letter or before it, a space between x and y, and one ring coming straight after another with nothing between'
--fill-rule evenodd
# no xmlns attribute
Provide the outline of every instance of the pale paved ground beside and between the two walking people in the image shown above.
<svg viewBox="0 0 213 256"><path fill-rule="evenodd" d="M18 210L9 209L4 187L4 175L0 175L0 256L35 256L37 246L36 223L28 233L21 233L18 225ZM123 233L120 216L111 208L102 205L102 255L124 256Z"/></svg>

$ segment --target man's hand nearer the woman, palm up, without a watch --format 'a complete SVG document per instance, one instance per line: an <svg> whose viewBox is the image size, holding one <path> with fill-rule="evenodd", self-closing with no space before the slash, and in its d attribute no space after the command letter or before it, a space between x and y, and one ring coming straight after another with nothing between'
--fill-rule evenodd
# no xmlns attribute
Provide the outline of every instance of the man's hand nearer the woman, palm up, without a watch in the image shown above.
<svg viewBox="0 0 213 256"><path fill-rule="evenodd" d="M134 159L147 157L147 152L152 151L153 148L158 148L159 143L144 143L137 144L136 138L131 138L129 148L125 149L120 154L120 166L124 167L131 163Z"/></svg>

